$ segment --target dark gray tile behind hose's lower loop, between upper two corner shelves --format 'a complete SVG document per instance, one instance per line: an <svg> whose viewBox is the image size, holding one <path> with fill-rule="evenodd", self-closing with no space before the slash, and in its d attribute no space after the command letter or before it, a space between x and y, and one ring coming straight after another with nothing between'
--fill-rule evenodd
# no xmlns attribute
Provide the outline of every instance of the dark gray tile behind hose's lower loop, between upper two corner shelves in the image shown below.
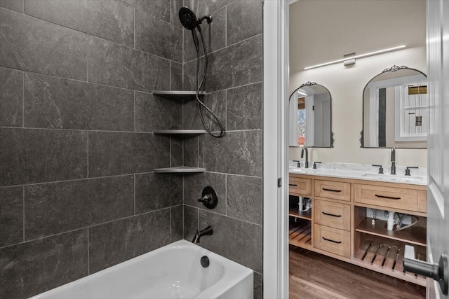
<svg viewBox="0 0 449 299"><path fill-rule="evenodd" d="M217 116L222 124L223 128L226 130L226 91L222 90L219 92L208 93L207 95L201 97L201 101ZM203 113L203 119L209 130L213 132L220 131L220 126L217 120L206 111L206 109L201 108ZM199 118L198 104L196 100L189 101L184 104L183 113L183 128L184 129L201 129L203 130L203 124Z"/></svg>

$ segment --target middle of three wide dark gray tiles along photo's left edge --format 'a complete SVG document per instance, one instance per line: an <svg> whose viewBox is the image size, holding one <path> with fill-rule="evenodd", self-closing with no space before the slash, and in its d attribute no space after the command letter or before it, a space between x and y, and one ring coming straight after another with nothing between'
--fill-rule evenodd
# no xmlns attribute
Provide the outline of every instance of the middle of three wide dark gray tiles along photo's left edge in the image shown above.
<svg viewBox="0 0 449 299"><path fill-rule="evenodd" d="M0 186L85 178L86 135L0 128Z"/></svg>

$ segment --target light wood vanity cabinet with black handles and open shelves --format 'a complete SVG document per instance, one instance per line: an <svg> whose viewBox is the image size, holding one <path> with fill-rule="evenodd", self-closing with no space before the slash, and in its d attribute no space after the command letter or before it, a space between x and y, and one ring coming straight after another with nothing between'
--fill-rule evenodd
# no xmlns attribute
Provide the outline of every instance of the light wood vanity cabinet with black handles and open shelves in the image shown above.
<svg viewBox="0 0 449 299"><path fill-rule="evenodd" d="M415 247L415 258L426 259L426 186L306 174L290 174L289 184L290 195L312 202L309 211L290 206L290 244L426 286L424 277L404 272L402 265L406 244ZM391 231L387 221L373 223L371 209L419 221Z"/></svg>

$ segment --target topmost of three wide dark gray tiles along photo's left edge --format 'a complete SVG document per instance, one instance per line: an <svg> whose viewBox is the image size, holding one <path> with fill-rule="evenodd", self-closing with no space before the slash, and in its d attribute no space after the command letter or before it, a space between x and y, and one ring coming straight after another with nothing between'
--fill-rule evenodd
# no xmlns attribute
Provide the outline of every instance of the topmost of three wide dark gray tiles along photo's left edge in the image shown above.
<svg viewBox="0 0 449 299"><path fill-rule="evenodd" d="M86 81L87 34L0 8L0 65Z"/></svg>

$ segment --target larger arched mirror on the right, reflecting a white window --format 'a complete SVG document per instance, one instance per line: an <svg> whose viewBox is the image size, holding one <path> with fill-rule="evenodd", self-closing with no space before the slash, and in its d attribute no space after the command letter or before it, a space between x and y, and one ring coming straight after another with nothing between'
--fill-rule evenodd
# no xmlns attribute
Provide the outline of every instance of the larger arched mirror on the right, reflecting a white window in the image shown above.
<svg viewBox="0 0 449 299"><path fill-rule="evenodd" d="M428 124L427 76L422 71L395 65L366 84L361 147L427 148Z"/></svg>

